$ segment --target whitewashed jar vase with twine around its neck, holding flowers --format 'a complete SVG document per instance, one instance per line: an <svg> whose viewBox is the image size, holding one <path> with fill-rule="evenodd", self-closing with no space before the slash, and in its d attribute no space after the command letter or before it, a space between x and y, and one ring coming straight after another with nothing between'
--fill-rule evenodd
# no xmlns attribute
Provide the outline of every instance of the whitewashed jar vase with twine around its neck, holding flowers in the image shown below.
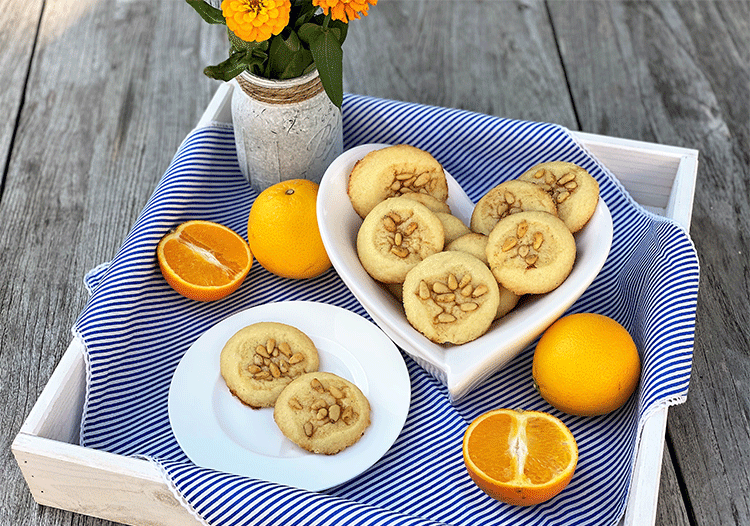
<svg viewBox="0 0 750 526"><path fill-rule="evenodd" d="M341 110L317 70L290 80L243 72L232 94L240 169L258 192L287 179L320 182L343 151Z"/></svg>

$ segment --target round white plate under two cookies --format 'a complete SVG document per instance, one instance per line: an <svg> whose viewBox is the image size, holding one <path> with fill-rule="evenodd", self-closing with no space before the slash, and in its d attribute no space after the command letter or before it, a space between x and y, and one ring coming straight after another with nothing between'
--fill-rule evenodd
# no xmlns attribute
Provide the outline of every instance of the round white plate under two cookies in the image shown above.
<svg viewBox="0 0 750 526"><path fill-rule="evenodd" d="M227 389L219 355L238 330L259 321L297 327L315 343L320 370L354 382L370 402L370 427L336 455L304 451L281 434L273 409L251 409ZM337 486L375 464L406 421L411 383L401 353L363 317L323 303L269 303L216 324L187 350L169 389L169 420L196 465L310 491Z"/></svg>

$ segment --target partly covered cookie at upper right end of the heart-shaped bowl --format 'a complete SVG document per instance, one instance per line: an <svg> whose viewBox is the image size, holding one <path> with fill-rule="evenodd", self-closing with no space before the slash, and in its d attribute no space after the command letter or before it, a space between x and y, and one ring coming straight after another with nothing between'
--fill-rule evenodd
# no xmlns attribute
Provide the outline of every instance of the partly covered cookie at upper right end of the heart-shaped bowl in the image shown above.
<svg viewBox="0 0 750 526"><path fill-rule="evenodd" d="M580 166L553 161L533 166L519 180L541 186L557 204L557 215L571 232L578 232L599 203L599 183Z"/></svg>

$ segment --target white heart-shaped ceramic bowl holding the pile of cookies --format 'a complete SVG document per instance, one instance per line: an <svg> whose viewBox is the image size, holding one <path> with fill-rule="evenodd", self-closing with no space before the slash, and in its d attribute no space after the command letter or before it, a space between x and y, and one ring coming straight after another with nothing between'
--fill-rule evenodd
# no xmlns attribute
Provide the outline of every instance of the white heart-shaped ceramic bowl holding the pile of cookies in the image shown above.
<svg viewBox="0 0 750 526"><path fill-rule="evenodd" d="M521 352L583 294L609 255L612 216L600 199L594 216L575 234L576 262L557 289L522 298L513 311L496 320L487 333L472 342L460 346L436 344L409 324L401 302L370 278L357 257L356 239L362 219L347 195L349 173L368 152L385 146L357 146L341 154L328 167L318 191L320 234L334 268L375 323L445 384L451 398L457 400ZM468 225L474 203L455 179L446 175L451 211Z"/></svg>

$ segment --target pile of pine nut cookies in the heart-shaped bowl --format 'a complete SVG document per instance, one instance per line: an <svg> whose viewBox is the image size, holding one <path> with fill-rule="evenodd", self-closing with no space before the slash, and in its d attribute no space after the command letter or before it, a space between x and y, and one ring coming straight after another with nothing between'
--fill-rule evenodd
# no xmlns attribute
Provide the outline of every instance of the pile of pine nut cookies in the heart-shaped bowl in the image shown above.
<svg viewBox="0 0 750 526"><path fill-rule="evenodd" d="M362 217L362 266L435 343L484 334L525 294L557 288L576 258L573 234L596 210L599 185L567 162L538 164L476 204L470 225L451 214L440 163L409 145L368 153L349 175Z"/></svg>

